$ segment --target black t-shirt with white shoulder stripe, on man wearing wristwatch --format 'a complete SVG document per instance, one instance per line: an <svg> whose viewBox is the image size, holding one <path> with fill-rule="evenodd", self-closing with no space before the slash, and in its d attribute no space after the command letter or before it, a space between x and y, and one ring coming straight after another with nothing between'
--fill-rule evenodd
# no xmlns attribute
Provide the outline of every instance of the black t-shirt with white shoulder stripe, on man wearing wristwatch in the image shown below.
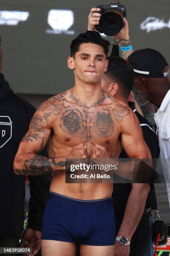
<svg viewBox="0 0 170 256"><path fill-rule="evenodd" d="M133 108L133 106L131 106ZM143 131L143 138L148 145L148 148L150 149L152 158L158 158L160 154L160 148L159 148L159 141L158 137L155 133L155 131L152 128L152 125L144 118L138 111L134 110L135 114L138 117L138 120L140 122L140 126ZM125 150L122 148L122 151L120 153L120 158L128 158L127 154L125 153ZM112 193L112 201L113 206L115 210L115 218L122 219L125 207L128 201L128 197L130 195L132 186L131 184L125 183L125 184L118 184L115 183L113 187L113 193ZM146 202L146 207L148 208L150 205L150 193L148 195L148 199Z"/></svg>

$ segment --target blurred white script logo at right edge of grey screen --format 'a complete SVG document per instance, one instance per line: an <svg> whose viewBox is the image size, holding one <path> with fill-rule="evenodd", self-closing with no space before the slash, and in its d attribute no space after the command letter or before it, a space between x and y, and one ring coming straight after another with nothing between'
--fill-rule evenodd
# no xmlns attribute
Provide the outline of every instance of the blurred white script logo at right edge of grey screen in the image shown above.
<svg viewBox="0 0 170 256"><path fill-rule="evenodd" d="M140 24L140 28L142 30L146 30L147 33L158 29L170 28L170 20L168 23L165 23L163 20L158 18L148 17Z"/></svg>

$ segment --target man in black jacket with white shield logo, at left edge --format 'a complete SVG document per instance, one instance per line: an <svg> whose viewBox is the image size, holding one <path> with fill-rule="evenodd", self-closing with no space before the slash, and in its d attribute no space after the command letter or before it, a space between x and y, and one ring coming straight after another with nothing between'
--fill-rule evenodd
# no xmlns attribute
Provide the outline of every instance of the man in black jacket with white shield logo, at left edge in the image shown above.
<svg viewBox="0 0 170 256"><path fill-rule="evenodd" d="M0 48L0 72L1 69ZM0 247L17 246L23 231L25 176L15 175L13 161L34 112L35 108L15 95L0 73ZM31 197L26 238L28 242L32 242L33 248L37 243L40 247L38 240L41 237L42 217L50 179L51 174L30 177Z"/></svg>

